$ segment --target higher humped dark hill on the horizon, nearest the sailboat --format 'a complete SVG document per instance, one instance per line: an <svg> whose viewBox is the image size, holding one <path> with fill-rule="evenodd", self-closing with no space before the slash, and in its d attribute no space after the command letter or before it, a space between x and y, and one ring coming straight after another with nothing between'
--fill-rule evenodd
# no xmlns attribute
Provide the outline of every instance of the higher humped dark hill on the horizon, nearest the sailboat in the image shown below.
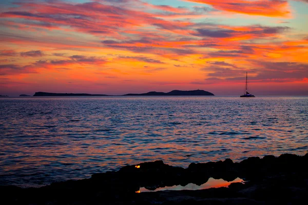
<svg viewBox="0 0 308 205"><path fill-rule="evenodd" d="M172 90L171 92L168 93L152 91L142 94L126 94L124 96L204 96L204 95L214 96L213 93L204 90L189 90L189 91Z"/></svg>

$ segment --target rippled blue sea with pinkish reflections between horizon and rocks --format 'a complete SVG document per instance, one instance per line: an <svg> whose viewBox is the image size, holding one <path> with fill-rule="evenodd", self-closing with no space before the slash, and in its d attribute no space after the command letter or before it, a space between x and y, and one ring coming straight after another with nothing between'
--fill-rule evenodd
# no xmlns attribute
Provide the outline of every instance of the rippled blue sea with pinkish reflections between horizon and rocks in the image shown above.
<svg viewBox="0 0 308 205"><path fill-rule="evenodd" d="M308 150L308 97L0 98L0 185Z"/></svg>

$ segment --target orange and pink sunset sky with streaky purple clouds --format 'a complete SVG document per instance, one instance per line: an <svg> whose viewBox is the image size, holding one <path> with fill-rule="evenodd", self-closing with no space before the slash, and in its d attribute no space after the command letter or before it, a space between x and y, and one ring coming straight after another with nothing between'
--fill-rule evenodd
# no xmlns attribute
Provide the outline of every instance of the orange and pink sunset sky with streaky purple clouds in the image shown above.
<svg viewBox="0 0 308 205"><path fill-rule="evenodd" d="M308 95L308 0L5 0L0 95Z"/></svg>

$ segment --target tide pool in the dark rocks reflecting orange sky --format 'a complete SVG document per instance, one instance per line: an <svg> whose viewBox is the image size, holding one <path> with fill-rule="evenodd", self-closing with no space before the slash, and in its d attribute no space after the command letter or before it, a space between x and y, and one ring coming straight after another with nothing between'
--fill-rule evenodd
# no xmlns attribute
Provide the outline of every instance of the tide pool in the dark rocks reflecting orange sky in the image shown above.
<svg viewBox="0 0 308 205"><path fill-rule="evenodd" d="M223 179L214 179L210 177L206 183L203 183L203 185L195 185L194 183L188 183L185 187L181 185L175 185L172 187L162 187L162 188L157 188L156 190L148 190L145 187L140 188L140 192L157 192L157 191L164 191L164 190L201 190L201 189L209 189L209 188L219 188L219 187L228 187L231 183L234 182L241 182L244 183L243 179L236 178L233 181L225 181ZM138 192L138 193L140 193ZM137 193L137 192L136 192Z"/></svg>

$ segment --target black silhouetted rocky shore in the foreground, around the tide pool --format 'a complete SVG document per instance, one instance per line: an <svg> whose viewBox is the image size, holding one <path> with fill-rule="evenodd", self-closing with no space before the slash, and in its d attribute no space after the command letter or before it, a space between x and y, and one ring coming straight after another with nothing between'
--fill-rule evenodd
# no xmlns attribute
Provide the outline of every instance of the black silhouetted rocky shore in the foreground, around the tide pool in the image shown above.
<svg viewBox="0 0 308 205"><path fill-rule="evenodd" d="M241 162L191 163L172 167L144 162L89 179L52 183L41 188L0 186L5 204L300 204L308 194L308 154L249 157ZM188 183L202 185L210 177L245 183L228 188L138 193Z"/></svg>

